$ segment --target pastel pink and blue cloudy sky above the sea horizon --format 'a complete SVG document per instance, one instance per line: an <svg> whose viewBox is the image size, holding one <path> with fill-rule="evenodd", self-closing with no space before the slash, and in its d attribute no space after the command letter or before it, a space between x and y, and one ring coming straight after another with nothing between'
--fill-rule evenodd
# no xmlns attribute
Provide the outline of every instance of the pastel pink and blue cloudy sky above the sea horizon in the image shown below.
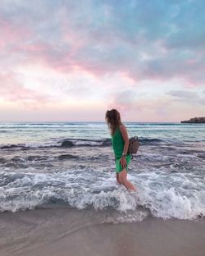
<svg viewBox="0 0 205 256"><path fill-rule="evenodd" d="M0 121L205 117L203 0L1 0Z"/></svg>

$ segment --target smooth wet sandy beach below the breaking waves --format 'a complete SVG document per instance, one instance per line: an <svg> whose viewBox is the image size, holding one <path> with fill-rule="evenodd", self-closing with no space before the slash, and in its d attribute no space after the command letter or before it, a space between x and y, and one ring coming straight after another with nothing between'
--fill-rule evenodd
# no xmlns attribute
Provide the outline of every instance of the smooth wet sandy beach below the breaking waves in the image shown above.
<svg viewBox="0 0 205 256"><path fill-rule="evenodd" d="M205 222L103 223L108 213L69 208L1 213L1 256L204 256Z"/></svg>

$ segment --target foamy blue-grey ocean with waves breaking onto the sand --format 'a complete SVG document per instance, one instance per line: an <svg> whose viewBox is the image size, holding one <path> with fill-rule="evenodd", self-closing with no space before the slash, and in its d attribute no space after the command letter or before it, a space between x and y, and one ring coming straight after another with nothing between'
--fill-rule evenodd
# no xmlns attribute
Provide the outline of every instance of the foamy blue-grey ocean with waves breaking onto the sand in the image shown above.
<svg viewBox="0 0 205 256"><path fill-rule="evenodd" d="M125 122L139 136L128 179L116 184L103 122L0 123L0 212L89 210L102 222L205 215L205 125Z"/></svg>

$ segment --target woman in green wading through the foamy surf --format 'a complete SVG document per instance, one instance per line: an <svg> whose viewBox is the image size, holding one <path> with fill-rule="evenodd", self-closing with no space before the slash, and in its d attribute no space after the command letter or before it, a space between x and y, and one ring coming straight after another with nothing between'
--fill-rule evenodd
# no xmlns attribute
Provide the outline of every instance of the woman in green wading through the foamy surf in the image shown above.
<svg viewBox="0 0 205 256"><path fill-rule="evenodd" d="M107 110L105 119L111 130L112 148L116 158L116 181L128 190L136 191L134 185L127 181L127 168L131 156L128 151L129 138L126 127L121 123L121 115L116 109Z"/></svg>

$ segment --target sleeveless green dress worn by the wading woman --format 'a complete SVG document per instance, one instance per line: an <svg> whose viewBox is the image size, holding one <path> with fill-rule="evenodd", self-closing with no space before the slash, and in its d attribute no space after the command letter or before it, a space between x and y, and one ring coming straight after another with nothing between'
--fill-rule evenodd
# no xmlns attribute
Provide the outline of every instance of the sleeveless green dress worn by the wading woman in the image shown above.
<svg viewBox="0 0 205 256"><path fill-rule="evenodd" d="M120 161L121 161L121 156L123 153L124 146L125 146L125 141L121 135L121 130L118 127L114 135L112 135L112 149L114 150L114 154L116 158L116 172L122 171ZM125 159L126 159L126 171L127 171L128 164L130 163L130 160L131 160L131 155L127 154Z"/></svg>

